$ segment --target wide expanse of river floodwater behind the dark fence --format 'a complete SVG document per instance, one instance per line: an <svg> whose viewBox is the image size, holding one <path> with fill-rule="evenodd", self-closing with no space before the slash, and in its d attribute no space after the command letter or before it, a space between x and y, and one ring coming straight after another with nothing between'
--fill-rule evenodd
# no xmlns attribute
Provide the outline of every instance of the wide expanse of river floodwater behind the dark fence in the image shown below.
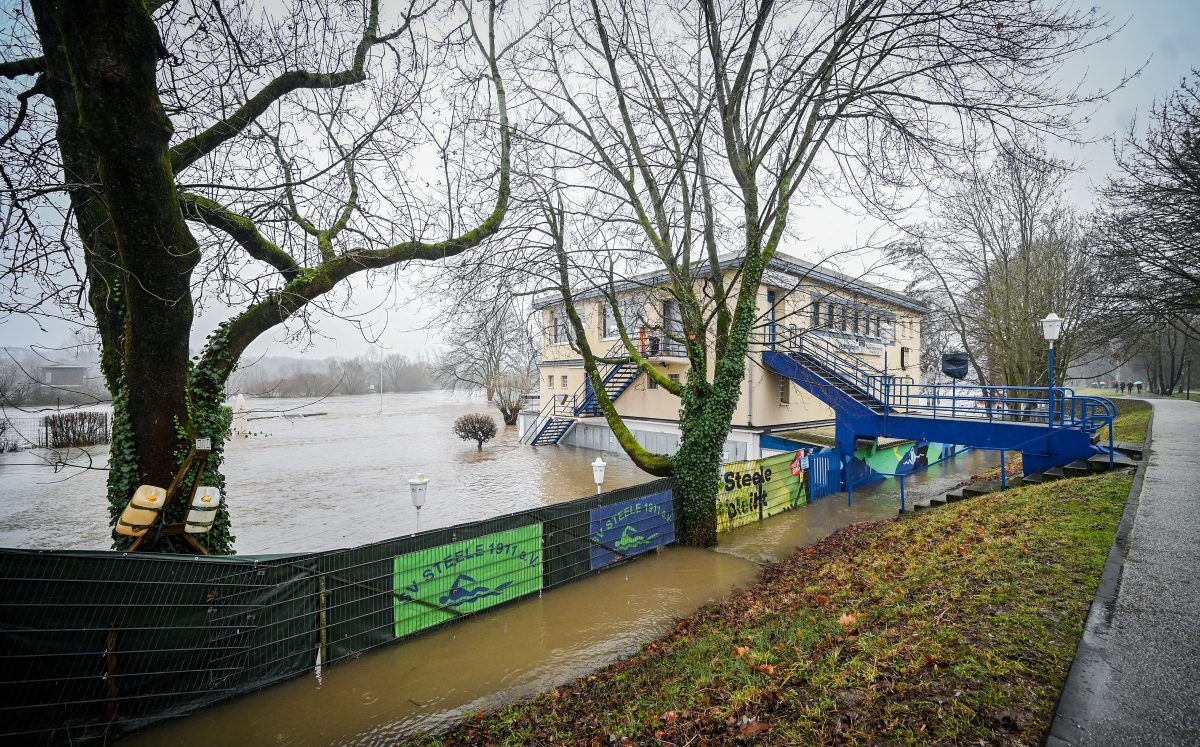
<svg viewBox="0 0 1200 747"><path fill-rule="evenodd" d="M458 440L455 418L488 412L479 396L416 392L310 400L248 400L250 438L226 448L224 474L239 552L313 551L408 534L416 515L408 479L430 478L421 528L486 519L595 492L595 452L522 446L500 428L485 444ZM324 413L284 419L289 416ZM44 454L44 453L42 453ZM108 449L90 459L104 467ZM652 479L623 454L605 454L605 489ZM76 454L72 461L86 461ZM106 550L103 470L55 473L37 454L0 454L0 546Z"/></svg>

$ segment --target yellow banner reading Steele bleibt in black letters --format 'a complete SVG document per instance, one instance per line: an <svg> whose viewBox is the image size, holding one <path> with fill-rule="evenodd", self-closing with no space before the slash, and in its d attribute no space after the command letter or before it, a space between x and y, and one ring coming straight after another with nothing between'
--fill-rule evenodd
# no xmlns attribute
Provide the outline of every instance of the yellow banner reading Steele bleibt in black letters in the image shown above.
<svg viewBox="0 0 1200 747"><path fill-rule="evenodd" d="M716 496L716 531L727 532L791 510L808 500L804 450L724 466Z"/></svg>

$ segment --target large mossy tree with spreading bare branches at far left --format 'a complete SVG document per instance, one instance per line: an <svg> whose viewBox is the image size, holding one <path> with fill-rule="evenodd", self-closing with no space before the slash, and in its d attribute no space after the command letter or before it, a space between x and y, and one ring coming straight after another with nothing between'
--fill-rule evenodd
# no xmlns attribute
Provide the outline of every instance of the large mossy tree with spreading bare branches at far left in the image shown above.
<svg viewBox="0 0 1200 747"><path fill-rule="evenodd" d="M194 438L220 455L223 384L259 335L289 319L304 331L310 305L353 275L385 280L500 226L503 49L496 2L482 19L475 8L29 0L6 12L0 309L98 329L113 516L139 483L169 484ZM421 168L446 100L469 102L460 126L476 145L445 165L475 177L452 215ZM233 316L190 360L202 301ZM208 484L223 485L220 462ZM230 551L224 506L208 542Z"/></svg>

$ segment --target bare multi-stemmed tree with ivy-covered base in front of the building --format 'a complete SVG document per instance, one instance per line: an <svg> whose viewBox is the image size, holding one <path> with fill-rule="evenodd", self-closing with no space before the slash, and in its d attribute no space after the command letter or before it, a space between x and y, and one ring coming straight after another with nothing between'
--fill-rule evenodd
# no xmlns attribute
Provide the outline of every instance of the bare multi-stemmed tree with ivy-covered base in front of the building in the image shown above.
<svg viewBox="0 0 1200 747"><path fill-rule="evenodd" d="M608 425L643 470L674 474L680 538L715 542L715 476L760 318L760 283L794 203L850 196L877 214L997 131L1069 132L1051 83L1094 41L1094 13L1027 0L566 4L522 66L523 144L569 324ZM534 148L534 143L540 148ZM553 177L550 180L547 177ZM736 250L736 271L718 258ZM655 274L674 301L685 381L624 354L679 396L679 449L642 447L605 394L574 299ZM664 327L667 327L666 324Z"/></svg>

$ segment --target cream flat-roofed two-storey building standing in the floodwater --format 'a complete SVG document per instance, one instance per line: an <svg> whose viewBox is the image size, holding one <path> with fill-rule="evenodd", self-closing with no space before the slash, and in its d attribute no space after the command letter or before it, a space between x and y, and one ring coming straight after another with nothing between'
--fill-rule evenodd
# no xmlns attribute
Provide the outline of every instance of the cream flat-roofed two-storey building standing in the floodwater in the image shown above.
<svg viewBox="0 0 1200 747"><path fill-rule="evenodd" d="M726 282L738 265L738 256L722 257L720 267ZM618 286L623 322L649 360L665 375L686 381L688 358L677 342L664 335L664 329L674 329L672 322L678 312L670 295L653 289L653 276L647 276ZM571 345L562 299L545 299L539 307L544 329L539 399L545 412L551 398L560 404L582 401L584 370L582 357ZM578 293L576 307L594 353L604 355L619 345L616 319L599 293ZM895 291L802 259L776 256L758 289L757 323L746 357L742 396L733 414L733 430L726 444L726 460L762 456L763 435L833 423L834 413L828 406L792 381L763 367L762 352L769 349L772 340L784 346L804 335L816 335L869 366L883 370L886 364L887 372L919 382L920 317L926 312L920 303ZM616 399L616 406L646 448L674 452L679 434L677 396L640 374ZM522 413L522 434L534 426L536 416L532 408ZM602 417L577 418L559 443L619 450Z"/></svg>

